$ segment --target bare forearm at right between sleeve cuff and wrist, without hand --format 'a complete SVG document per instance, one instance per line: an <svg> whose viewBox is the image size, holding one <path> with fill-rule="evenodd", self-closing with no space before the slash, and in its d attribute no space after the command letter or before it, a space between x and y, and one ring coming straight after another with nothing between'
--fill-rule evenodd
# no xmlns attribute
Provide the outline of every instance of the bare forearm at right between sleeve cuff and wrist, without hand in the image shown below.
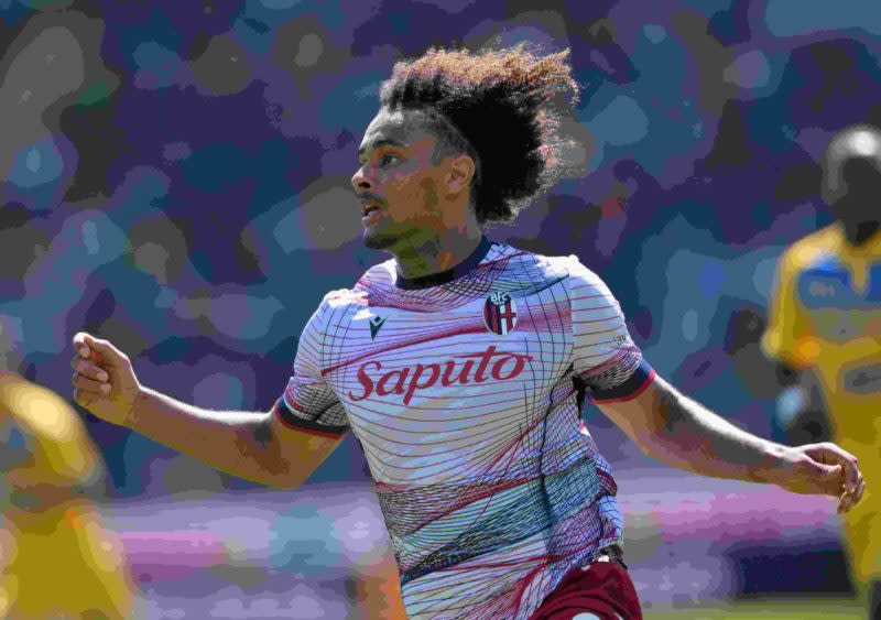
<svg viewBox="0 0 881 620"><path fill-rule="evenodd" d="M664 384L656 398L656 425L638 444L672 467L703 476L769 482L788 449L751 435Z"/></svg>

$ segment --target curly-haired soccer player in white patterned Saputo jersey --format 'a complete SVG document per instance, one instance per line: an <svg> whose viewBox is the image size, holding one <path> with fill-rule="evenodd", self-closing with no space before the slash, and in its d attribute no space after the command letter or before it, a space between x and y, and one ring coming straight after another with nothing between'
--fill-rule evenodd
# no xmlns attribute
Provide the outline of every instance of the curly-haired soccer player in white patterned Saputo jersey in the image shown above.
<svg viewBox="0 0 881 620"><path fill-rule="evenodd" d="M848 453L728 424L650 368L609 289L575 257L483 236L561 170L561 115L577 93L567 55L432 50L395 65L351 180L365 243L392 259L325 296L271 412L177 402L84 333L73 339L76 401L291 488L350 431L411 618L641 618L614 478L579 424L585 399L666 464L849 509L863 482Z"/></svg>

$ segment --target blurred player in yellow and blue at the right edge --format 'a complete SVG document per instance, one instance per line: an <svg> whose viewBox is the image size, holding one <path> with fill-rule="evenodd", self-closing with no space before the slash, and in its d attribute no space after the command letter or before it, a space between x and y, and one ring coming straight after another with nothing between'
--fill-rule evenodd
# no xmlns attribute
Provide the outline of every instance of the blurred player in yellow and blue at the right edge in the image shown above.
<svg viewBox="0 0 881 620"><path fill-rule="evenodd" d="M833 138L823 197L837 221L784 252L762 344L791 384L792 442L830 436L859 459L866 493L845 532L868 617L881 618L881 130Z"/></svg>

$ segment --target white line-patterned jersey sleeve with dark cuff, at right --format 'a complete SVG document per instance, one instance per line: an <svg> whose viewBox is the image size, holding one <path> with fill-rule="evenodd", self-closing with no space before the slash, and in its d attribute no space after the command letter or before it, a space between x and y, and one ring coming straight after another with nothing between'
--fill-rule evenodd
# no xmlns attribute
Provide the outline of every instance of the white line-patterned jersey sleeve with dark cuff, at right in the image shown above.
<svg viewBox="0 0 881 620"><path fill-rule="evenodd" d="M638 396L654 379L654 370L628 333L618 300L606 283L572 258L569 267L573 366L595 403Z"/></svg>

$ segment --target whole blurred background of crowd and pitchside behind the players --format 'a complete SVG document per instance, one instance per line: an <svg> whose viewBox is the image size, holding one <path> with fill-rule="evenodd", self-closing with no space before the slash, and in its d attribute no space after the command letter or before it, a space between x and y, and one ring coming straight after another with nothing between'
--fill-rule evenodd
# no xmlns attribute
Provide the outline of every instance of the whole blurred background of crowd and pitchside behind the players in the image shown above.
<svg viewBox="0 0 881 620"><path fill-rule="evenodd" d="M268 410L323 294L388 258L361 247L349 178L393 63L529 41L572 50L580 173L489 237L577 254L659 372L772 436L776 260L831 221L828 139L881 123L879 35L874 0L0 0L3 363L70 398L86 329L146 385ZM830 501L663 468L584 415L648 618L860 617ZM383 617L354 438L282 492L87 427L146 617Z"/></svg>

